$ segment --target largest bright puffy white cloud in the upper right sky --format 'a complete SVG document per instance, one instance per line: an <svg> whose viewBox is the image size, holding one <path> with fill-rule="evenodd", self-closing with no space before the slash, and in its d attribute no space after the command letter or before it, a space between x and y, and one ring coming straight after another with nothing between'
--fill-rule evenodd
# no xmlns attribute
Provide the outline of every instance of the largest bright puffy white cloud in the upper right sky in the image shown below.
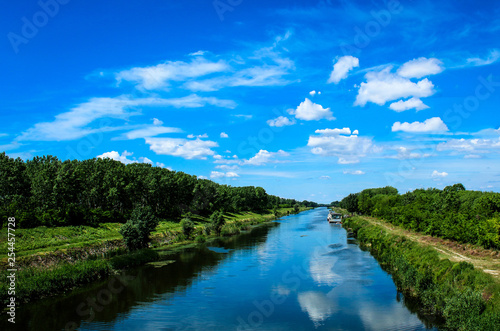
<svg viewBox="0 0 500 331"><path fill-rule="evenodd" d="M389 66L378 72L368 72L365 75L366 82L359 86L354 105L365 106L367 102L373 102L382 106L387 101L408 97L423 98L435 93L434 85L427 78L414 83L392 73L391 69Z"/></svg>

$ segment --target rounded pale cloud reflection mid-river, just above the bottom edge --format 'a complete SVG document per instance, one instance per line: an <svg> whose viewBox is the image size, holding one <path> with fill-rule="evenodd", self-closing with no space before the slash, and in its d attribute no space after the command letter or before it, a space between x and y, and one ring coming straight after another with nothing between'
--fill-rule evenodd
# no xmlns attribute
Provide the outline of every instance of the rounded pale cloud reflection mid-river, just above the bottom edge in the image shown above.
<svg viewBox="0 0 500 331"><path fill-rule="evenodd" d="M326 320L335 311L335 304L323 292L301 292L298 295L300 308L307 312L315 326Z"/></svg>

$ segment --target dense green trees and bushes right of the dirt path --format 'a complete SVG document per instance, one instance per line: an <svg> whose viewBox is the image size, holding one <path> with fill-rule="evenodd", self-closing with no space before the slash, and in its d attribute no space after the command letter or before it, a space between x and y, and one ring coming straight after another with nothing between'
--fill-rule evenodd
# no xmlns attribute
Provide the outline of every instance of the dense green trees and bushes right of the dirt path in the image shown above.
<svg viewBox="0 0 500 331"><path fill-rule="evenodd" d="M395 188L384 187L350 194L341 207L429 235L500 248L499 193L467 191L455 184L399 195Z"/></svg>

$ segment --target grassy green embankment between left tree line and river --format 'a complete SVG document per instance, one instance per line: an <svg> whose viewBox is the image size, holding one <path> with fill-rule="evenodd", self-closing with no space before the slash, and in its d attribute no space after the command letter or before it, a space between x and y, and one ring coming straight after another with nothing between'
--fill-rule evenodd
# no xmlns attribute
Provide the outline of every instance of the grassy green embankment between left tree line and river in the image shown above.
<svg viewBox="0 0 500 331"><path fill-rule="evenodd" d="M301 207L300 211L310 208ZM281 215L293 208L279 209ZM225 215L222 236L249 230L252 226L275 220L272 213L244 212ZM17 229L16 234L16 300L28 302L70 291L121 269L162 259L169 249L178 249L215 238L206 231L208 219L194 218L194 233L189 238L177 222L162 221L152 233L151 249L127 252L119 234L120 223L102 223L98 227L37 227ZM7 238L0 235L1 273L7 270ZM167 249L167 251L165 251ZM0 302L7 299L7 282L0 283Z"/></svg>

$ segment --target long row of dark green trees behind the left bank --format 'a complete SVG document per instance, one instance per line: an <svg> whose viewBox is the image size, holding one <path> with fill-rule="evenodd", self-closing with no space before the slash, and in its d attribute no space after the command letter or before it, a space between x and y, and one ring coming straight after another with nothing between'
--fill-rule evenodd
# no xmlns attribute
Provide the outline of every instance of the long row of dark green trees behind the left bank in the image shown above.
<svg viewBox="0 0 500 331"><path fill-rule="evenodd" d="M61 161L36 156L23 161L0 154L0 215L20 227L97 225L126 222L136 208L179 221L186 213L208 217L215 211L263 212L296 204L262 187L233 187L145 163L109 158Z"/></svg>

